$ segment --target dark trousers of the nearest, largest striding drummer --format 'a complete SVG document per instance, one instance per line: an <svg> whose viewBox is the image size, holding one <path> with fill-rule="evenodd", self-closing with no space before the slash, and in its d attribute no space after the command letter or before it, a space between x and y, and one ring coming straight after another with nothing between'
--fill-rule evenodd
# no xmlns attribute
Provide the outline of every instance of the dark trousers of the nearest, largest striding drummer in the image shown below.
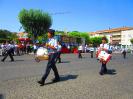
<svg viewBox="0 0 133 99"><path fill-rule="evenodd" d="M54 53L49 55L49 59L48 59L48 64L46 67L46 71L42 77L42 81L45 82L45 80L47 79L51 69L54 71L54 75L55 75L55 79L59 79L59 74L58 74L58 70L56 68L56 58L57 58L58 53Z"/></svg>

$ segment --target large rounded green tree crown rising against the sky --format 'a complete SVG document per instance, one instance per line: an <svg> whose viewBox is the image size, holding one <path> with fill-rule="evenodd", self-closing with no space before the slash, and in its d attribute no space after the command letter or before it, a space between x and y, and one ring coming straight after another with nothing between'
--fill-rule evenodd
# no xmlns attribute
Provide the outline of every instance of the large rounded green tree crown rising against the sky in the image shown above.
<svg viewBox="0 0 133 99"><path fill-rule="evenodd" d="M41 10L22 9L18 15L23 29L29 33L35 40L42 36L52 25L51 16Z"/></svg>

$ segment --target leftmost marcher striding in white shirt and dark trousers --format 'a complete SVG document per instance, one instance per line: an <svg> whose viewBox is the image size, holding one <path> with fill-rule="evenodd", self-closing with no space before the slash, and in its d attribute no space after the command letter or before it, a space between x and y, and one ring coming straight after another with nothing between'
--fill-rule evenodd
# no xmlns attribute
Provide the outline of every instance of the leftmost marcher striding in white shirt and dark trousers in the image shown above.
<svg viewBox="0 0 133 99"><path fill-rule="evenodd" d="M4 58L1 61L4 62L5 59L7 58L7 56L9 55L10 58L11 58L11 62L13 62L14 61L13 53L14 53L13 44L10 44L9 42L7 42L7 44L5 46L5 55L4 55Z"/></svg>

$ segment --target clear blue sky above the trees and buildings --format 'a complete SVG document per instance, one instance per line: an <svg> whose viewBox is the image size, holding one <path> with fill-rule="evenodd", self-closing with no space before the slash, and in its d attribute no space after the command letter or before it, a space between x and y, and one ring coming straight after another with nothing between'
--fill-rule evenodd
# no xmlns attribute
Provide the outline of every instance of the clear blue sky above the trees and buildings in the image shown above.
<svg viewBox="0 0 133 99"><path fill-rule="evenodd" d="M0 0L0 29L19 32L18 14L23 8L50 13L51 28L61 31L133 26L133 0Z"/></svg>

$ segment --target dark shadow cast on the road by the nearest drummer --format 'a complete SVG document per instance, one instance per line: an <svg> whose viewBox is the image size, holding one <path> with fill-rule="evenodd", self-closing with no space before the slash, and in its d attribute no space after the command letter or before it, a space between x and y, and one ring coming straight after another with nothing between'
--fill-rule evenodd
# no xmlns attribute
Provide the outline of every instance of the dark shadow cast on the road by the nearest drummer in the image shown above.
<svg viewBox="0 0 133 99"><path fill-rule="evenodd" d="M61 75L59 82L67 81L70 79L76 79L77 77L78 77L78 75ZM46 83L45 85L49 85L49 84L53 84L53 83L57 83L57 82L49 82L49 83Z"/></svg>

